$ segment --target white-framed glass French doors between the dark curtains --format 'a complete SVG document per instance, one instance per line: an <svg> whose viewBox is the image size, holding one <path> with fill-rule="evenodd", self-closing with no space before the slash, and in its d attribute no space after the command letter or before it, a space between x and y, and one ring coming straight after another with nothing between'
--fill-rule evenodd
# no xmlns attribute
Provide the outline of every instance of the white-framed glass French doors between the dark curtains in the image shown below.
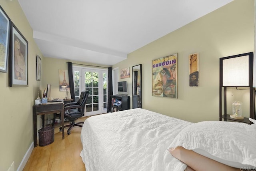
<svg viewBox="0 0 256 171"><path fill-rule="evenodd" d="M73 67L76 101L83 90L89 91L84 116L107 112L108 70Z"/></svg>

